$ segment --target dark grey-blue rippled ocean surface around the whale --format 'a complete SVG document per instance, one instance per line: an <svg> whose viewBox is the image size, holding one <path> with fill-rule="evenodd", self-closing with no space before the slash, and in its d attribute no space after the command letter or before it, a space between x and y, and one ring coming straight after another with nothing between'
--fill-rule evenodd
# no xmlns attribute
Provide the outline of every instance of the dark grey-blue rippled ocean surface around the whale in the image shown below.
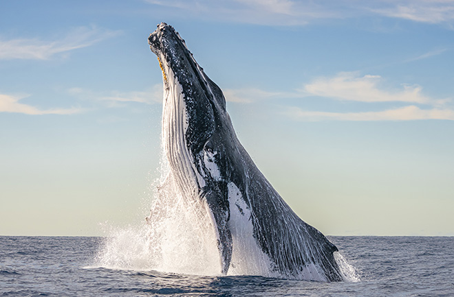
<svg viewBox="0 0 454 297"><path fill-rule="evenodd" d="M454 296L454 237L329 237L360 280L96 267L101 237L0 236L0 296Z"/></svg>

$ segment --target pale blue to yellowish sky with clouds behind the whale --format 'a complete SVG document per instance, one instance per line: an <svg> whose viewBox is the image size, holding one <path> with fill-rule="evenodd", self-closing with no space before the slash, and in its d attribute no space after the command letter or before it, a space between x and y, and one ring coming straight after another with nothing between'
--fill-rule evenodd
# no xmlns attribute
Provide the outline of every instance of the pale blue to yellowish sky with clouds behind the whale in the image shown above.
<svg viewBox="0 0 454 297"><path fill-rule="evenodd" d="M143 224L173 25L325 235L454 235L454 1L0 0L0 235Z"/></svg>

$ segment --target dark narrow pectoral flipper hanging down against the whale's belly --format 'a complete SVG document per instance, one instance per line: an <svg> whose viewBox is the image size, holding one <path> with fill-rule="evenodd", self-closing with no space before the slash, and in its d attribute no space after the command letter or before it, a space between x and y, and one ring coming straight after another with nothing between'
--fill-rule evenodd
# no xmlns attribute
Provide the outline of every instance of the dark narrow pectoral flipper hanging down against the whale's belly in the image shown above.
<svg viewBox="0 0 454 297"><path fill-rule="evenodd" d="M204 197L208 202L217 229L217 248L221 260L221 273L227 274L233 249L232 233L230 233L227 225L230 219L228 200L215 191L206 191Z"/></svg>

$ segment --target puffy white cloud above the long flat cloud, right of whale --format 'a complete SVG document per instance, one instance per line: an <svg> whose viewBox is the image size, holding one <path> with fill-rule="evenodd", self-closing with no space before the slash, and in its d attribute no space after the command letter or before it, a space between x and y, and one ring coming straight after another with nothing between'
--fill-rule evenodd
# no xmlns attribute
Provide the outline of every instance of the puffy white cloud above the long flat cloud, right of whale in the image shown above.
<svg viewBox="0 0 454 297"><path fill-rule="evenodd" d="M378 87L379 75L358 76L358 73L342 72L333 78L318 78L306 84L303 92L309 95L358 102L413 102L435 104L434 100L422 95L422 87L404 85L399 91L387 91Z"/></svg>

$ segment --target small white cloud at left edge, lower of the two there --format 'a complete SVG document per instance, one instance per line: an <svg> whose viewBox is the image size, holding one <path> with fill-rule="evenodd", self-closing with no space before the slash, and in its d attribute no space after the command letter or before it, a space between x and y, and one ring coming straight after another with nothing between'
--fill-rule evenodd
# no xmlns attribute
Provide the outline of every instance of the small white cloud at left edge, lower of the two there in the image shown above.
<svg viewBox="0 0 454 297"><path fill-rule="evenodd" d="M39 109L35 106L22 104L19 100L27 96L12 96L0 94L0 112L16 112L25 115L72 115L82 112L82 108L50 108Z"/></svg>

